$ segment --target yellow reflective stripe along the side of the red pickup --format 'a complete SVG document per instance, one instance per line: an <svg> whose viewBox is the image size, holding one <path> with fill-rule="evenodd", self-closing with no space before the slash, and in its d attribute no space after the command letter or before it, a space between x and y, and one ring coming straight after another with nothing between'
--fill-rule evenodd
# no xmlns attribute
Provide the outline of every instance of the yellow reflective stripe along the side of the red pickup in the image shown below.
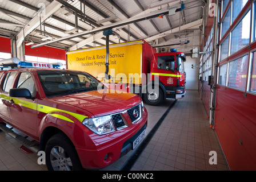
<svg viewBox="0 0 256 182"><path fill-rule="evenodd" d="M9 97L8 96L6 96L4 94L0 94L0 96L4 100L9 101ZM66 111L66 110L56 109L54 107L40 105L40 104L36 104L34 102L23 101L23 100L20 100L18 98L14 98L14 97L10 97L10 100L13 100L15 104L18 104L20 106L27 107L27 108L33 109L33 110L37 110L39 112L46 113L46 114L52 113L52 112L62 112L62 113L70 114L73 117L77 118L80 122L83 122L83 120L85 118L87 118L86 115L81 115L81 114L72 113L72 112ZM65 121L73 122L73 121L71 121L71 119L69 119L69 118L67 118L67 117L65 117L63 115L59 115L59 114L50 114L50 115L53 116L53 117L59 118L59 119L63 119Z"/></svg>

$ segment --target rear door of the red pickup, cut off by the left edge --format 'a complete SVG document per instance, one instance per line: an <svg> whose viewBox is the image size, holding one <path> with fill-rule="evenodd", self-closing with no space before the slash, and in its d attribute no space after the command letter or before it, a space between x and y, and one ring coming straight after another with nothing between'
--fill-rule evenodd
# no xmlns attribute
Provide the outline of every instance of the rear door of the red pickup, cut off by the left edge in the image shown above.
<svg viewBox="0 0 256 182"><path fill-rule="evenodd" d="M5 77L2 80L1 84L1 90L0 90L0 115L1 118L7 122L7 124L11 124L10 120L10 113L9 113L9 107L11 105L9 101L9 90L13 88L14 81L15 81L15 75L17 72L7 72Z"/></svg>

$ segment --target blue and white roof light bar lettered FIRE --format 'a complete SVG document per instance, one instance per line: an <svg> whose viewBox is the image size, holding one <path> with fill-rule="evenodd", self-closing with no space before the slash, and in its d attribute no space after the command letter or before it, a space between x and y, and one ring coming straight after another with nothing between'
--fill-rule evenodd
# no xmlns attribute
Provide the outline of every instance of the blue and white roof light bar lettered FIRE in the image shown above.
<svg viewBox="0 0 256 182"><path fill-rule="evenodd" d="M61 69L63 67L62 63L58 64L47 64L47 63L31 63L31 62L25 62L20 61L17 66L19 68L57 68Z"/></svg>

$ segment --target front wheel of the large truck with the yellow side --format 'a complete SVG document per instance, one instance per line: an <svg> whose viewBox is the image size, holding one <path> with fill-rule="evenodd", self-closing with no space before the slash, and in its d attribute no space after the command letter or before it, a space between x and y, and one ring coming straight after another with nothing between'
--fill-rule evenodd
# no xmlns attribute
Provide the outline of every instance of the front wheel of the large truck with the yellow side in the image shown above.
<svg viewBox="0 0 256 182"><path fill-rule="evenodd" d="M163 92L160 88L159 90L147 90L147 93L143 94L143 99L149 105L160 105L163 102Z"/></svg>

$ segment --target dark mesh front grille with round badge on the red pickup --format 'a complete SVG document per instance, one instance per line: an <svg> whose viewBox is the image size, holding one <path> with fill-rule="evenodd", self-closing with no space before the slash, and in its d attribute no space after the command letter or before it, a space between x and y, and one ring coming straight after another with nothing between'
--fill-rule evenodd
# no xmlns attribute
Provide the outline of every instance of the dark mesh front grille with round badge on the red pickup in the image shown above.
<svg viewBox="0 0 256 182"><path fill-rule="evenodd" d="M141 104L138 104L134 107L131 107L130 109L127 109L125 111L123 111L122 113L127 112L127 114L129 115L131 122L135 123L136 121L138 121L139 119L141 119ZM123 118L121 117L122 113L116 113L116 114L112 114L111 118L114 122L115 127L117 128L117 130L123 129L124 127L127 127L127 125L123 121Z"/></svg>

